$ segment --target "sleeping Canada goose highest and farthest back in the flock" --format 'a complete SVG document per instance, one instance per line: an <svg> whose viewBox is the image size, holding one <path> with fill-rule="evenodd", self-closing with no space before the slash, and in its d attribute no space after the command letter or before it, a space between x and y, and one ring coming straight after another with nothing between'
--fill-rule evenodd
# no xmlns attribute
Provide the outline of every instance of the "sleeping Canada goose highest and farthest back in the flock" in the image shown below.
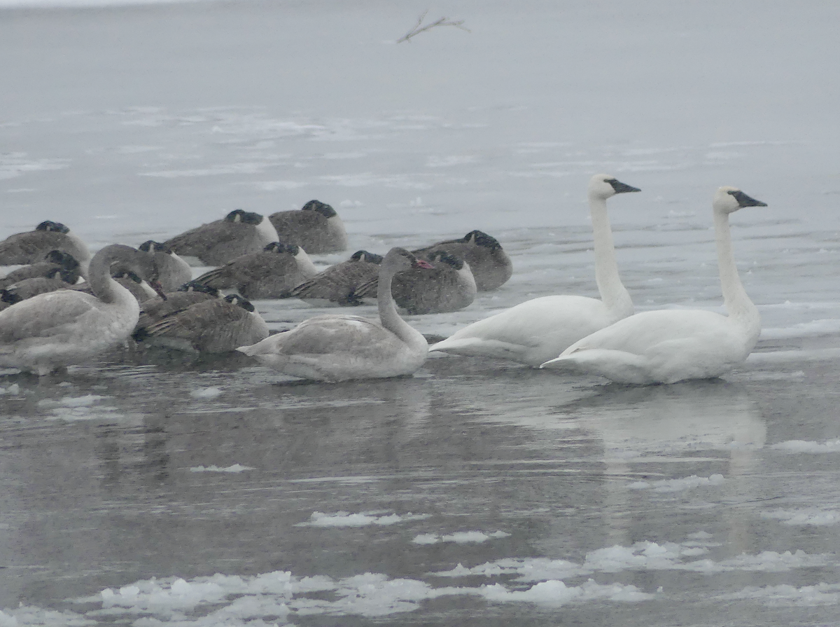
<svg viewBox="0 0 840 627"><path fill-rule="evenodd" d="M302 246L312 255L347 250L347 231L335 209L310 200L297 211L278 211L269 216L277 239Z"/></svg>

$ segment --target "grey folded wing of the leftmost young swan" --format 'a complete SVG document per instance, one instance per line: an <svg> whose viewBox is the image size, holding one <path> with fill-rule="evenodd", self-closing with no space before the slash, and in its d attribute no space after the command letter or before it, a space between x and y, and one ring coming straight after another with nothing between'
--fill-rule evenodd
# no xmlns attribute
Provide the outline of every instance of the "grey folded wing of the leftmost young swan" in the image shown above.
<svg viewBox="0 0 840 627"><path fill-rule="evenodd" d="M66 325L97 308L96 297L59 290L40 294L0 312L0 344L33 337L60 335Z"/></svg>

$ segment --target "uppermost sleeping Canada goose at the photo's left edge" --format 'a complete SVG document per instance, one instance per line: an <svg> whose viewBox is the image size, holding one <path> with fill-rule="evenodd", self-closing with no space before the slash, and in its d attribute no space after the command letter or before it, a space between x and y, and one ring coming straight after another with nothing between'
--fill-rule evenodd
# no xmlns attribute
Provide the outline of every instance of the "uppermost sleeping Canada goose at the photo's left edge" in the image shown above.
<svg viewBox="0 0 840 627"><path fill-rule="evenodd" d="M32 231L9 235L0 242L0 266L23 266L43 261L50 250L60 250L71 255L87 276L91 251L76 234L64 224L45 220Z"/></svg>

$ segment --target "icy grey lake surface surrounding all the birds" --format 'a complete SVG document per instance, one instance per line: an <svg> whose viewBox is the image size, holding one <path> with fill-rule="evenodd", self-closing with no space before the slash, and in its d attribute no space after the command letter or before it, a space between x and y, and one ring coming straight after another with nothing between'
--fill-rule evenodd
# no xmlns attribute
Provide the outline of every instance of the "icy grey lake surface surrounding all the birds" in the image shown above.
<svg viewBox="0 0 840 627"><path fill-rule="evenodd" d="M609 205L638 310L721 310L711 196L769 205L732 216L764 330L724 380L435 356L325 385L134 350L4 373L0 627L836 623L840 8L638 4L435 6L470 32L399 45L426 5L0 9L0 237L139 245L318 198L350 238L326 266L482 229L514 275L410 318L449 335L596 295L597 171L643 190Z"/></svg>

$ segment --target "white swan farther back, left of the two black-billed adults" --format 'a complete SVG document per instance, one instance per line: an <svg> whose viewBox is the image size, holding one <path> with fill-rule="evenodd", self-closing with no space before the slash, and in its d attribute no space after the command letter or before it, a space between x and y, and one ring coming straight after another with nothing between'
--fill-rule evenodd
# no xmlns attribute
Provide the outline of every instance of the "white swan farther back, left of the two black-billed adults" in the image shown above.
<svg viewBox="0 0 840 627"><path fill-rule="evenodd" d="M459 329L429 350L539 366L580 338L633 314L633 301L618 276L606 199L638 191L606 174L596 174L589 182L595 278L601 300L566 295L533 298Z"/></svg>

